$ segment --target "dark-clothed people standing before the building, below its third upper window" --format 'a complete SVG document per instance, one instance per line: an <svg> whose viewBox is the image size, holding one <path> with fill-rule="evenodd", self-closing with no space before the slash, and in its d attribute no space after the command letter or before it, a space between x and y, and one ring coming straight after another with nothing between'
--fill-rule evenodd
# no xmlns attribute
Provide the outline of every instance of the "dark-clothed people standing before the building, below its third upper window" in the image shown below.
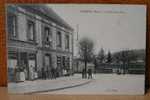
<svg viewBox="0 0 150 100"><path fill-rule="evenodd" d="M51 69L46 69L46 68L42 68L42 78L43 79L56 79L57 77L57 69L55 68L51 68Z"/></svg>

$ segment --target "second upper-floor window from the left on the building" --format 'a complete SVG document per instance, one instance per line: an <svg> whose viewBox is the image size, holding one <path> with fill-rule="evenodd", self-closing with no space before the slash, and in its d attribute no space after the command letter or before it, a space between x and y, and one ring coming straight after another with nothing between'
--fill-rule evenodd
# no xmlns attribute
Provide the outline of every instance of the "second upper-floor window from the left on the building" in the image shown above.
<svg viewBox="0 0 150 100"><path fill-rule="evenodd" d="M28 21L28 39L30 41L35 41L35 23L33 21Z"/></svg>

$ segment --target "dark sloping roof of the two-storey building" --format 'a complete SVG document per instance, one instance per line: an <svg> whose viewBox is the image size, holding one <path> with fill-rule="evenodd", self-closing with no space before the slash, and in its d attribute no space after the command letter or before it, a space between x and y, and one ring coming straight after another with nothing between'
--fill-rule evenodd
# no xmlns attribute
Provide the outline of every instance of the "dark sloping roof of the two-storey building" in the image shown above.
<svg viewBox="0 0 150 100"><path fill-rule="evenodd" d="M54 21L56 24L59 24L60 26L65 27L67 29L73 30L73 28L66 21L64 21L52 8L44 4L20 4L17 6L29 10L33 13L36 13L40 16L45 16L48 19Z"/></svg>

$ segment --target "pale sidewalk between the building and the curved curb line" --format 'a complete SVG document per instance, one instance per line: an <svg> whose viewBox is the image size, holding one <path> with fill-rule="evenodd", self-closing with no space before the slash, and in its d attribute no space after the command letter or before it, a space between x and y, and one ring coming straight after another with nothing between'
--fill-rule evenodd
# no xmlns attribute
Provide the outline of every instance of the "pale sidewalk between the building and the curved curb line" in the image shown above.
<svg viewBox="0 0 150 100"><path fill-rule="evenodd" d="M21 83L8 83L9 93L23 93L32 94L40 92L50 92L56 90L63 90L66 88L73 88L77 86L82 86L90 83L91 80L82 79L81 75L75 74L69 77L60 77L56 80L35 80L35 81L25 81Z"/></svg>

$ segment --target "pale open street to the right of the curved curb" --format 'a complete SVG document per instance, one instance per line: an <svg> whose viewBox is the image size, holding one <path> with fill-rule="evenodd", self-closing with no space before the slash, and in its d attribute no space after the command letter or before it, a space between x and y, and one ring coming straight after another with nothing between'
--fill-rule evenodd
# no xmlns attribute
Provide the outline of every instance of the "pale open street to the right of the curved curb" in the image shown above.
<svg viewBox="0 0 150 100"><path fill-rule="evenodd" d="M144 75L96 74L92 82L83 86L41 94L116 94L144 93Z"/></svg>

